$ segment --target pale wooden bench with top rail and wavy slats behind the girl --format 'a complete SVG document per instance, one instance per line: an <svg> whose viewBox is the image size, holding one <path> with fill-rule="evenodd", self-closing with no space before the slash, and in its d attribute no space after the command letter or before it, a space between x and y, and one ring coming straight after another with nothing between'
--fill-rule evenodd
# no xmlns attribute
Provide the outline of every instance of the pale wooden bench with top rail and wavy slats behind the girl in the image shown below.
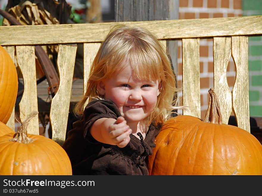
<svg viewBox="0 0 262 196"><path fill-rule="evenodd" d="M183 115L199 118L199 39L213 38L214 89L220 100L223 122L228 122L231 112L234 111L238 127L250 132L248 36L262 35L262 16L119 23L143 26L155 33L164 45L166 40L182 40L183 70L185 70L183 105L190 106L190 111L183 111ZM52 139L60 145L63 144L66 137L77 43L83 43L84 47L85 87L92 60L101 41L114 24L111 22L0 26L0 45L7 49L13 59L17 58L24 78L24 94L19 103L22 121L32 111L38 110L34 46L59 44L57 66L60 85L52 99L50 123ZM236 82L232 92L226 79L226 68L231 55L236 64ZM14 129L14 115L11 116L8 126ZM32 119L29 126L29 133L39 134L38 118Z"/></svg>

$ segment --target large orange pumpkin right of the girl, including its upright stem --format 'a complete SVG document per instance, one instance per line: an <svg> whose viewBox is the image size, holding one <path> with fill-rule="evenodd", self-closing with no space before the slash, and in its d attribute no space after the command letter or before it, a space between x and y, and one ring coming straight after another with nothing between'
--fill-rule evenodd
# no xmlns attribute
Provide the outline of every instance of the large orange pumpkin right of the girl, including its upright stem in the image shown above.
<svg viewBox="0 0 262 196"><path fill-rule="evenodd" d="M262 145L249 132L222 124L213 88L205 120L169 119L149 156L150 175L262 175Z"/></svg>

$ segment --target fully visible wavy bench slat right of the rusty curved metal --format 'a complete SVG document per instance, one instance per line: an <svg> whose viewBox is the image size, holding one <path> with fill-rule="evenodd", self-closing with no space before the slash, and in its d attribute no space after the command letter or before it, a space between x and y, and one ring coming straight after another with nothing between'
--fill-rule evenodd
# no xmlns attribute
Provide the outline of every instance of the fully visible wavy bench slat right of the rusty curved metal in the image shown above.
<svg viewBox="0 0 262 196"><path fill-rule="evenodd" d="M66 139L76 52L76 44L59 45L57 67L60 76L60 84L54 98L52 99L50 123L52 126L52 139L60 145L62 145Z"/></svg>

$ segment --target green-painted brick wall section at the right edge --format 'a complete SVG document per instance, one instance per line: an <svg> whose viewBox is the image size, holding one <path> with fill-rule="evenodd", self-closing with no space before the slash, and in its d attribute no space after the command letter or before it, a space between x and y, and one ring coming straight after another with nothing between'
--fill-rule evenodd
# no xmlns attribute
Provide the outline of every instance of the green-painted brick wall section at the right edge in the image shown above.
<svg viewBox="0 0 262 196"><path fill-rule="evenodd" d="M242 0L243 15L262 15L261 0ZM248 39L250 116L262 117L262 38Z"/></svg>

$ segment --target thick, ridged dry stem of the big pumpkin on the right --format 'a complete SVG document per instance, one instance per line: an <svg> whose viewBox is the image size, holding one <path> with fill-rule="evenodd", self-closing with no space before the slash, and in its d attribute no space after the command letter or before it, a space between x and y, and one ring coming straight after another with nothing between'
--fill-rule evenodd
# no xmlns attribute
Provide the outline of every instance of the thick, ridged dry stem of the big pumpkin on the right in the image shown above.
<svg viewBox="0 0 262 196"><path fill-rule="evenodd" d="M208 109L203 121L207 123L222 124L220 105L215 90L213 88L210 88L208 90L208 93L210 95Z"/></svg>

